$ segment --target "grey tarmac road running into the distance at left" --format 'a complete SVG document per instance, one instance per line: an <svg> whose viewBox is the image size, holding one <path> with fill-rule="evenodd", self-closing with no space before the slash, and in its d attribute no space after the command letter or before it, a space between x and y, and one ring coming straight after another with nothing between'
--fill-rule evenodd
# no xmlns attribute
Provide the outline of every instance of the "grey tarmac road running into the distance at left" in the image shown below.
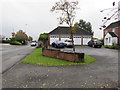
<svg viewBox="0 0 120 90"><path fill-rule="evenodd" d="M7 71L10 67L15 65L29 53L31 53L34 48L30 46L17 46L9 44L0 44L2 48L2 73Z"/></svg>

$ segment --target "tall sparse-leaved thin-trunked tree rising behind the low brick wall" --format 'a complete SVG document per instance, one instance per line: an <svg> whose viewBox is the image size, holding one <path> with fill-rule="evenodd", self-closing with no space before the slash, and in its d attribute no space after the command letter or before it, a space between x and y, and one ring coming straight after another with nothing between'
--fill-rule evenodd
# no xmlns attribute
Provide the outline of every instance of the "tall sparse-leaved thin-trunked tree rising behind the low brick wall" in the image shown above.
<svg viewBox="0 0 120 90"><path fill-rule="evenodd" d="M72 45L74 52L75 52L75 47L73 43L72 26L76 15L76 10L78 9L77 5L78 5L78 1L60 0L59 2L56 2L51 9L52 12L59 11L61 13L61 16L58 18L60 24L63 24L65 22L66 24L69 25L71 30Z"/></svg>

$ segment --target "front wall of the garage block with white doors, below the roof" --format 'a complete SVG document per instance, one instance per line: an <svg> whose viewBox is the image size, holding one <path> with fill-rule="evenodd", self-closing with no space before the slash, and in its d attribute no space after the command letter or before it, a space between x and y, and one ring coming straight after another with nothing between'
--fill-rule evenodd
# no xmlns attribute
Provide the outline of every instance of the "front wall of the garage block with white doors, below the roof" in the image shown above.
<svg viewBox="0 0 120 90"><path fill-rule="evenodd" d="M52 42L61 40L65 41L70 39L70 35L49 35L49 44L51 45ZM92 39L92 36L79 36L74 35L74 45L87 45L87 43Z"/></svg>

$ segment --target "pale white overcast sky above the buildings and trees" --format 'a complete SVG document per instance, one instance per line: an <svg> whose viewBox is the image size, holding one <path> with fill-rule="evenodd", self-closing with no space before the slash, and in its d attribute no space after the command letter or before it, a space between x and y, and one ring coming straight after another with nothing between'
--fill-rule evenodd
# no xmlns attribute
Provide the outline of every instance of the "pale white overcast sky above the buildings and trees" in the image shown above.
<svg viewBox="0 0 120 90"><path fill-rule="evenodd" d="M17 32L22 29L28 36L32 36L37 40L40 33L52 31L59 26L57 20L59 13L50 12L56 1L59 0L2 0L0 5L2 7L0 14L2 15L0 16L2 35L11 37L11 32ZM117 7L120 0L78 1L80 9L77 10L75 22L78 22L80 19L90 22L94 31L94 37L102 38L103 31L99 30L99 27L102 25L103 17L107 16L110 10L106 10L103 13L100 10L112 8L112 2L114 1L116 2L115 7ZM113 22L113 20L110 22Z"/></svg>

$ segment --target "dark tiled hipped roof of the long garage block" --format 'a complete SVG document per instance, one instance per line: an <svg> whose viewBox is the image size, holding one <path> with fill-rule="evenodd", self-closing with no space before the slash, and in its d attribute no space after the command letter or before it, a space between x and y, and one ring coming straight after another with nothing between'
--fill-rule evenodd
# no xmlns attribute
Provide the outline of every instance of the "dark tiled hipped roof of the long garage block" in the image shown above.
<svg viewBox="0 0 120 90"><path fill-rule="evenodd" d="M59 26L59 27L55 28L53 31L51 31L49 34L54 35L54 34L70 34L70 33L71 33L71 31L70 31L69 27ZM93 35L93 33L90 33L83 29L77 28L74 35Z"/></svg>

